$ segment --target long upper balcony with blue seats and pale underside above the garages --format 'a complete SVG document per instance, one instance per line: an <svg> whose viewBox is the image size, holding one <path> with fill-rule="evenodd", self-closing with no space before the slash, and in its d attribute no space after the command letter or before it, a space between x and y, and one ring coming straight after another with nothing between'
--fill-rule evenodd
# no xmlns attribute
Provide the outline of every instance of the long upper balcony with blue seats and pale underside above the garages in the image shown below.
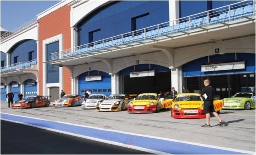
<svg viewBox="0 0 256 155"><path fill-rule="evenodd" d="M210 35L206 34L208 32ZM253 34L255 35L255 1L242 1L52 53L51 60L46 63L78 65L96 61L99 57L100 60L129 56L137 51L151 52L154 50L150 48L151 45L177 48L203 44L212 39L230 39Z"/></svg>

